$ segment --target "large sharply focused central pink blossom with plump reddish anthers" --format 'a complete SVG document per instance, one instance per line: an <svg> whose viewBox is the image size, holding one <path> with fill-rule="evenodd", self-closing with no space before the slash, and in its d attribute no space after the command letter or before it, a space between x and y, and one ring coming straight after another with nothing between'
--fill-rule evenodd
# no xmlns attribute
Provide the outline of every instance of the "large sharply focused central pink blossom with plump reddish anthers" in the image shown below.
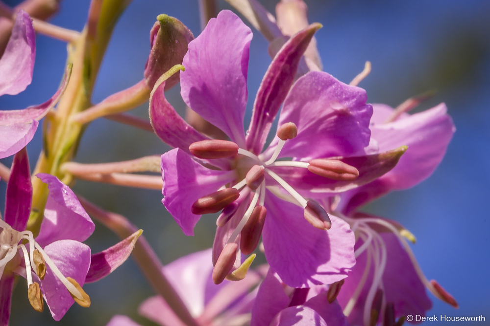
<svg viewBox="0 0 490 326"><path fill-rule="evenodd" d="M153 88L151 123L176 148L162 155L163 204L189 236L202 214L224 209L213 245L216 283L238 266L246 270L240 252L251 253L261 234L266 258L286 284L308 287L343 279L355 263L353 234L342 219L329 217L305 197L367 183L389 171L405 150L366 155L372 107L363 89L325 72L310 72L291 88L319 27L297 33L277 53L246 135L250 29L231 11L221 11L189 43L180 73L182 98L231 141L211 140L189 126L166 101L164 77ZM277 136L262 152L283 102ZM288 157L293 160L277 160Z"/></svg>

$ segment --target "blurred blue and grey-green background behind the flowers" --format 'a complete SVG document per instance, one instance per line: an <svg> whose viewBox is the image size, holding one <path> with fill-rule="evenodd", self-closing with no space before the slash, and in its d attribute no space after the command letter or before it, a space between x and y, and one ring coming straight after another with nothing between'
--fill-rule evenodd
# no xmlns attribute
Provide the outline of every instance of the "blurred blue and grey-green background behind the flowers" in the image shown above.
<svg viewBox="0 0 490 326"><path fill-rule="evenodd" d="M20 0L4 1L11 6ZM274 12L276 0L261 0ZM372 63L359 85L368 102L397 106L405 99L436 88L437 95L421 109L445 102L456 133L436 172L416 187L392 193L365 208L405 225L417 237L412 248L427 278L436 279L460 304L455 310L429 294L434 306L427 315L478 316L490 323L490 2L486 0L305 0L310 22L321 22L317 34L324 70L348 83ZM50 22L81 31L89 0L63 0ZM220 1L221 9L230 8ZM149 30L158 14L184 22L197 36L197 0L133 0L119 20L102 63L93 103L132 86L143 77L149 51ZM248 124L253 98L270 64L265 38L252 28L248 72ZM32 84L19 95L0 98L1 109L23 109L47 100L57 89L66 61L66 44L39 35ZM185 105L179 87L166 94L181 114ZM147 117L147 105L133 111ZM41 131L27 146L31 168L42 146ZM105 119L90 124L75 161L99 163L128 160L169 150L155 135ZM1 162L10 166L11 158ZM0 182L3 212L5 183ZM186 237L160 202L159 191L77 181L73 190L101 207L128 217L144 230L163 263L212 245L215 219L201 218L195 237ZM96 222L86 241L99 252L119 239ZM56 323L49 309L35 312L26 283L13 295L10 325L105 325L125 314L142 325L138 305L154 294L129 259L110 276L84 286L88 309L74 304ZM459 323L464 325L464 323Z"/></svg>

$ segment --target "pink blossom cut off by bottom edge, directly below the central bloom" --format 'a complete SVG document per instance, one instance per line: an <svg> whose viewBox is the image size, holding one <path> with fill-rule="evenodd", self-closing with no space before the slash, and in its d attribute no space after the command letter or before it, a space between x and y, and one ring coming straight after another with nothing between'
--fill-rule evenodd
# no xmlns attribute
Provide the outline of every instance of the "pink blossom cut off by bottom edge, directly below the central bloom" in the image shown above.
<svg viewBox="0 0 490 326"><path fill-rule="evenodd" d="M326 285L292 288L269 269L253 303L250 326L349 326Z"/></svg>

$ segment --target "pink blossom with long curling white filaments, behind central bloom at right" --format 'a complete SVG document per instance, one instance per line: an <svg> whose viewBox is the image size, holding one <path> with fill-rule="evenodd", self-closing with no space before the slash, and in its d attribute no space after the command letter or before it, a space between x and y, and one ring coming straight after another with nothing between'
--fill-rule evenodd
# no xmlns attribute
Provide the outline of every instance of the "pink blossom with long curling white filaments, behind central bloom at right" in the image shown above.
<svg viewBox="0 0 490 326"><path fill-rule="evenodd" d="M401 325L403 316L424 315L431 308L425 288L448 304L458 304L436 281L426 279L406 241L415 242L409 231L395 221L357 210L432 174L455 128L444 104L413 115L386 105L373 105L373 109L371 150L383 151L400 144L409 149L387 174L323 204L351 225L357 239L356 265L338 295L349 323L369 326L377 321L392 326ZM396 322L396 318L400 319Z"/></svg>

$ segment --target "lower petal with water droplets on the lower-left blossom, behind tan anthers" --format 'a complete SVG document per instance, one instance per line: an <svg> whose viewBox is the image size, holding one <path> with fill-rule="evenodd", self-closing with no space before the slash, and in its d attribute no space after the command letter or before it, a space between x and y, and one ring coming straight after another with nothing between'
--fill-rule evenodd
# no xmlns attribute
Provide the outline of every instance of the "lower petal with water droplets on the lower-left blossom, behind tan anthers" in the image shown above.
<svg viewBox="0 0 490 326"><path fill-rule="evenodd" d="M37 239L36 239L37 241ZM44 251L54 262L61 274L71 277L80 286L90 267L90 247L74 240L59 240L48 244ZM49 266L41 281L41 290L55 321L59 321L75 302L65 285L54 275Z"/></svg>

